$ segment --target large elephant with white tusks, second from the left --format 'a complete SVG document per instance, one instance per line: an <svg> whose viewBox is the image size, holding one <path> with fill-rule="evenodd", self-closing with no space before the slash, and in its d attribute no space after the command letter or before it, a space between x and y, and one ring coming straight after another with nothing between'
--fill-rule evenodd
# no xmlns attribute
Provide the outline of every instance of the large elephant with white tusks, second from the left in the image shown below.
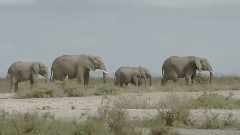
<svg viewBox="0 0 240 135"><path fill-rule="evenodd" d="M101 69L103 83L106 83L106 67L98 56L90 55L63 55L53 61L51 68L51 81L77 78L84 85L89 83L90 70Z"/></svg>

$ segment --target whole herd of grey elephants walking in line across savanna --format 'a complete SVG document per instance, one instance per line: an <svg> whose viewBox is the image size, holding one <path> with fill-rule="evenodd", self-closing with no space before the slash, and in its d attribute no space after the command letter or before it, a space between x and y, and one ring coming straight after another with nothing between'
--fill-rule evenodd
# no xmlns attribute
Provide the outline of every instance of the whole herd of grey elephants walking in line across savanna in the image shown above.
<svg viewBox="0 0 240 135"><path fill-rule="evenodd" d="M90 70L100 69L103 72L103 83L106 83L106 67L99 56L91 55L63 55L57 57L51 67L50 81L64 81L67 78L77 78L80 84L88 85ZM212 81L213 70L207 59L194 56L178 57L172 56L164 61L162 66L162 81L165 85L168 80L177 81L178 78L184 78L187 84L196 83L196 71L207 70L210 72L210 82ZM31 84L38 81L38 75L48 81L48 68L40 62L15 62L8 69L10 78L10 92L18 91L18 83L30 80ZM114 84L120 87L131 83L140 86L143 83L152 84L152 77L148 69L139 67L120 67L115 72ZM142 81L144 80L144 81Z"/></svg>

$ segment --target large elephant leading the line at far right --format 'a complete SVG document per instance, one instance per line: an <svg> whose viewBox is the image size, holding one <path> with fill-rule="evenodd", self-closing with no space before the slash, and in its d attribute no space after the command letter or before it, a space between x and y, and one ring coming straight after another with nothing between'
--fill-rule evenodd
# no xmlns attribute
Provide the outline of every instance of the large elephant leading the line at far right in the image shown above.
<svg viewBox="0 0 240 135"><path fill-rule="evenodd" d="M178 57L172 56L164 61L162 66L162 81L161 84L165 85L168 80L177 81L178 78L185 77L188 85L196 83L196 70L209 71L210 83L212 82L213 70L207 59L187 56Z"/></svg>

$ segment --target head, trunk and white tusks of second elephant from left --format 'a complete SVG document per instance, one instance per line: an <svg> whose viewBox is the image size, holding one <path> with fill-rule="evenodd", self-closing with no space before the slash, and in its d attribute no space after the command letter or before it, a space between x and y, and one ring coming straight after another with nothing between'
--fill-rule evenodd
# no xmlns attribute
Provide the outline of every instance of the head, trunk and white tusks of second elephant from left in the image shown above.
<svg viewBox="0 0 240 135"><path fill-rule="evenodd" d="M95 71L96 69L100 69L103 72L103 83L106 83L106 67L102 61L102 59L98 56L89 56L90 63L88 64L88 68L90 70Z"/></svg>

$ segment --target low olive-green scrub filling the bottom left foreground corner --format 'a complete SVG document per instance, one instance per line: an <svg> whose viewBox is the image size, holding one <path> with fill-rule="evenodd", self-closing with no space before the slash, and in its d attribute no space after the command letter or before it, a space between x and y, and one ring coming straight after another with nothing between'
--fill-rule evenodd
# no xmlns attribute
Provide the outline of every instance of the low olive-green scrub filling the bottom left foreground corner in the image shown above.
<svg viewBox="0 0 240 135"><path fill-rule="evenodd" d="M1 135L106 135L103 122L89 118L83 123L55 120L50 115L0 112Z"/></svg>

